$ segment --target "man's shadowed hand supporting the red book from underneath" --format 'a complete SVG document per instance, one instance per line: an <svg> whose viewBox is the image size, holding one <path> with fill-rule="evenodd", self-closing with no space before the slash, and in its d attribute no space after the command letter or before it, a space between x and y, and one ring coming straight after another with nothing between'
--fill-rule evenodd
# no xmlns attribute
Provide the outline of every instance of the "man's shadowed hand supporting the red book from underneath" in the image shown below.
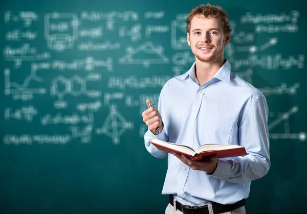
<svg viewBox="0 0 307 214"><path fill-rule="evenodd" d="M186 155L180 155L178 153L173 153L174 156L178 157L183 163L188 165L192 170L200 170L209 174L213 174L217 166L217 156L216 154L211 155L208 160L194 161L188 158Z"/></svg>

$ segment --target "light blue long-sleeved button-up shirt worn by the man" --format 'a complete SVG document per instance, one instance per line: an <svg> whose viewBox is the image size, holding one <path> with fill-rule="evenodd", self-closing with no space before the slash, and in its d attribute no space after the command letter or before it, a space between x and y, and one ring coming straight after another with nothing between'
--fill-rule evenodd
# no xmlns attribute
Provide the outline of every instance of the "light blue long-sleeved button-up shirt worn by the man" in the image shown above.
<svg viewBox="0 0 307 214"><path fill-rule="evenodd" d="M163 86L158 110L164 128L158 135L145 133L147 151L168 156L162 194L174 195L185 205L208 202L233 204L246 199L252 180L270 168L268 105L255 87L231 73L228 61L214 77L199 85L195 62L187 73ZM193 149L203 144L244 146L248 155L220 158L212 175L192 170L176 156L158 150L150 140L158 138Z"/></svg>

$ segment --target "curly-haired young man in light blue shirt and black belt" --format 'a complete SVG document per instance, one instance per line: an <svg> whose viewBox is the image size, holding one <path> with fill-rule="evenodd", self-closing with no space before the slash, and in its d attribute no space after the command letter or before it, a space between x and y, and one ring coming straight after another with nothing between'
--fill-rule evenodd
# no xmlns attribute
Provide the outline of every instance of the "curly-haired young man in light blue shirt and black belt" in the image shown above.
<svg viewBox="0 0 307 214"><path fill-rule="evenodd" d="M169 195L165 213L245 213L251 181L270 168L267 101L258 89L231 73L224 58L230 32L221 7L193 8L187 16L187 42L195 62L187 73L164 85L158 109L142 113L148 126L146 149L157 158L168 156L162 190ZM240 145L248 155L192 161L158 150L149 142L153 138L192 148Z"/></svg>

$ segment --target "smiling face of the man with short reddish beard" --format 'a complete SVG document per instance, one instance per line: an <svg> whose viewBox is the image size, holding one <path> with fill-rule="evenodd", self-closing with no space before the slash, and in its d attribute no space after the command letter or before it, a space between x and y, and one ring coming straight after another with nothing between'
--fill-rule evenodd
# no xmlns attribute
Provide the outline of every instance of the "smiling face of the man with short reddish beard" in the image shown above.
<svg viewBox="0 0 307 214"><path fill-rule="evenodd" d="M228 44L230 34L224 34L220 19L195 15L187 40L192 53L200 61L223 61L224 45Z"/></svg>

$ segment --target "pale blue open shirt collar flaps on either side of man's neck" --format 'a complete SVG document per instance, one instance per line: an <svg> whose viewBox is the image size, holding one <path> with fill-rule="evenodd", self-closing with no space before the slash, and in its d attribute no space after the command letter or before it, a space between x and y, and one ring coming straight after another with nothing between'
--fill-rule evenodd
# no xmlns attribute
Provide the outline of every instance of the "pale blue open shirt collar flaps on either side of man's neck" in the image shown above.
<svg viewBox="0 0 307 214"><path fill-rule="evenodd" d="M185 79L189 76L192 80L195 80L196 79L195 66L196 66L196 62L194 62L191 68L184 75L182 75L182 78ZM217 70L213 78L229 83L230 74L231 74L230 64L228 60L226 59L225 63L222 65L220 69Z"/></svg>

